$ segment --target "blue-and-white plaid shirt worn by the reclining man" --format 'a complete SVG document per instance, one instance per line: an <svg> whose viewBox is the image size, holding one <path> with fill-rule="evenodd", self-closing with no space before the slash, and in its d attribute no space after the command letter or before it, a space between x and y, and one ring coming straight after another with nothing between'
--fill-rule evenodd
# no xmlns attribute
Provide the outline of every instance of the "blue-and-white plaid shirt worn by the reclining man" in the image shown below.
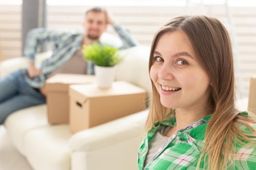
<svg viewBox="0 0 256 170"><path fill-rule="evenodd" d="M129 31L124 29L120 24L115 24L114 29L123 43L123 46L119 47L119 49L126 49L138 44ZM27 59L34 62L37 49L43 44L51 45L53 47L53 54L50 58L42 62L41 75L38 77L30 78L27 69L21 69L26 82L35 88L43 86L47 75L67 62L81 48L82 40L83 35L81 33L50 31L44 28L31 30L27 35L24 49ZM88 74L94 74L94 67L91 62L87 63L87 68Z"/></svg>

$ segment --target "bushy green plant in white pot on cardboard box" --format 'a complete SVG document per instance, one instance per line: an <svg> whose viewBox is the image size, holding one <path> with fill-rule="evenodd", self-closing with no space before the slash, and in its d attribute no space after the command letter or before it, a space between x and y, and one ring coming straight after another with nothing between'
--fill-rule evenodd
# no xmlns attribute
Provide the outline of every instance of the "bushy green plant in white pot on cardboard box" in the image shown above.
<svg viewBox="0 0 256 170"><path fill-rule="evenodd" d="M116 65L121 61L118 55L118 49L98 43L84 45L83 58L95 64L95 75L98 87L110 87L115 79Z"/></svg>

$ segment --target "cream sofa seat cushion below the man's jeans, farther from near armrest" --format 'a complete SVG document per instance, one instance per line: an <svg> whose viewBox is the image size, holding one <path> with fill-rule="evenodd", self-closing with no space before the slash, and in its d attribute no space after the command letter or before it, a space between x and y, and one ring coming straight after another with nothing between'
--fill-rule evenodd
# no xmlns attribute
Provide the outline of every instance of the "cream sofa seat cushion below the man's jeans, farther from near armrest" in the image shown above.
<svg viewBox="0 0 256 170"><path fill-rule="evenodd" d="M4 122L8 136L18 151L26 155L23 136L34 128L48 125L46 105L33 106L21 109L9 115Z"/></svg>

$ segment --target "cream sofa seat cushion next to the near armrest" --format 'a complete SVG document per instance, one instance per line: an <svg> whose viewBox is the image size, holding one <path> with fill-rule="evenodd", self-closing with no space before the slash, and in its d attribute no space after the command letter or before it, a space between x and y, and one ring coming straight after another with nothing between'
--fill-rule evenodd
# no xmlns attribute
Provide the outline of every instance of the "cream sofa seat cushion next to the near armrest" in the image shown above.
<svg viewBox="0 0 256 170"><path fill-rule="evenodd" d="M24 136L26 157L35 170L70 170L67 124L36 128Z"/></svg>

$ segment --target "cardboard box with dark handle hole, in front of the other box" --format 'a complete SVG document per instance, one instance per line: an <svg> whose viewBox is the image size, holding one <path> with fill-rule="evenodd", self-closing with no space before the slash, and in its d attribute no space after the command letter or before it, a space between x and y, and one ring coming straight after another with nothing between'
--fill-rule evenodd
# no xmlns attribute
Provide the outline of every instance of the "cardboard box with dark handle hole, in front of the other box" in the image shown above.
<svg viewBox="0 0 256 170"><path fill-rule="evenodd" d="M96 84L71 85L69 95L72 133L145 109L146 90L123 81L107 89Z"/></svg>

